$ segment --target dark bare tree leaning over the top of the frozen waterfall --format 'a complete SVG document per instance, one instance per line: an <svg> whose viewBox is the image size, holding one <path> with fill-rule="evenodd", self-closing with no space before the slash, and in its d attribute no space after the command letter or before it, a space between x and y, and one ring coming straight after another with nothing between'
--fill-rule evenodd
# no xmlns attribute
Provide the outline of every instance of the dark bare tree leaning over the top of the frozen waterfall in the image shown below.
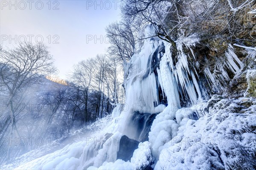
<svg viewBox="0 0 256 170"><path fill-rule="evenodd" d="M167 42L175 45L170 34L170 27L165 24L165 19L168 15L174 16L172 19L169 18L169 22L173 22L172 27L176 27L179 23L183 22L183 18L178 20L176 16L177 3L176 0L125 0L122 8L122 14L125 21L134 27L134 31L144 30L148 24L155 29L155 35L160 39L166 40ZM149 38L149 37L146 37Z"/></svg>

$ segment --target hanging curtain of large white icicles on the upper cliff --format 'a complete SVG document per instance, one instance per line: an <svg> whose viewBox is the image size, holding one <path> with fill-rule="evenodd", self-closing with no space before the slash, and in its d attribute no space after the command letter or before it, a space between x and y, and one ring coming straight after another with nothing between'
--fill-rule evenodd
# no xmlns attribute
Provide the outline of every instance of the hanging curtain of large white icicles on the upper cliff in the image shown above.
<svg viewBox="0 0 256 170"><path fill-rule="evenodd" d="M154 30L148 32L153 34ZM224 88L230 80L227 71L236 75L243 68L232 45L228 45L224 57L215 57L212 70L210 64L200 65L192 49L200 43L196 34L180 38L175 43L176 48L157 38L146 40L140 53L125 65L126 103L130 107L137 105L134 111L153 113L154 107L167 103L177 108L181 107L181 102L195 104L208 95L205 91L220 92ZM205 62L208 62L206 57ZM199 75L198 71L203 71L204 75ZM200 79L205 79L208 85L202 85ZM160 96L166 97L167 102L164 103Z"/></svg>

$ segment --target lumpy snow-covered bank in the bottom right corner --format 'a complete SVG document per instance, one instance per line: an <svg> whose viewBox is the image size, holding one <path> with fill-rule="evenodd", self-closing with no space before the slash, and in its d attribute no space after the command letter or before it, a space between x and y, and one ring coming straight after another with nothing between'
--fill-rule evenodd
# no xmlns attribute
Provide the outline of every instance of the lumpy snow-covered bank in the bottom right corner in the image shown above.
<svg viewBox="0 0 256 170"><path fill-rule="evenodd" d="M197 121L183 118L173 138L175 142L166 143L155 169L253 169L255 163L249 154L255 157L256 134L249 129L256 124L255 105L243 110L239 105L242 100L251 99L215 97L209 100L209 105L203 105L209 107L204 117Z"/></svg>

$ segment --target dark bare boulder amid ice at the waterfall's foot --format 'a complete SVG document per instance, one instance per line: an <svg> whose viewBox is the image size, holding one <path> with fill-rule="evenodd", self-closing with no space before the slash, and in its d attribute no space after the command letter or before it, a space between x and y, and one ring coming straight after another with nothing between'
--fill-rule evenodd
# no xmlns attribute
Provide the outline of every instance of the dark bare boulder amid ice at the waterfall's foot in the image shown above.
<svg viewBox="0 0 256 170"><path fill-rule="evenodd" d="M127 136L122 136L120 139L120 144L119 144L119 151L117 153L117 159L122 159L124 161L130 161L131 157L134 153L134 150L138 148L139 142L130 139Z"/></svg>

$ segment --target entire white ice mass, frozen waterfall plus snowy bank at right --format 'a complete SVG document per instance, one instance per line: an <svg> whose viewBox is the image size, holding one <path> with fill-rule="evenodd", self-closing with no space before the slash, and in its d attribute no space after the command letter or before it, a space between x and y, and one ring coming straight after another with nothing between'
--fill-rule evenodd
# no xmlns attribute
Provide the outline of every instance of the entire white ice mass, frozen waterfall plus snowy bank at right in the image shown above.
<svg viewBox="0 0 256 170"><path fill-rule="evenodd" d="M154 30L148 27L146 32L152 34ZM223 99L216 95L205 101L205 89L199 81L202 78L198 74L199 63L191 48L196 43L200 43L196 35L178 39L175 59L170 43L158 38L145 40L141 51L125 63L126 103L116 106L111 121L79 142L22 162L17 169L240 168L236 161L253 167L253 163L248 163L253 162L252 158L247 155L248 159L244 160L242 154L250 153L255 157L256 135L243 128L255 127L256 103L244 98L252 103L251 107L244 108L239 105L243 103L241 99ZM185 48L192 56L184 52ZM191 61L194 64L189 65ZM227 70L236 75L242 68L243 63L229 45L223 62L216 65L214 71L205 67L203 72L209 87L218 91L222 87L221 80L230 80ZM182 107L184 101L187 105ZM147 127L147 122L152 123L151 127ZM234 141L231 133L236 133L238 140ZM117 158L123 135L138 141L144 135L148 137L147 141L140 142L130 161ZM227 145L216 141L218 139Z"/></svg>

